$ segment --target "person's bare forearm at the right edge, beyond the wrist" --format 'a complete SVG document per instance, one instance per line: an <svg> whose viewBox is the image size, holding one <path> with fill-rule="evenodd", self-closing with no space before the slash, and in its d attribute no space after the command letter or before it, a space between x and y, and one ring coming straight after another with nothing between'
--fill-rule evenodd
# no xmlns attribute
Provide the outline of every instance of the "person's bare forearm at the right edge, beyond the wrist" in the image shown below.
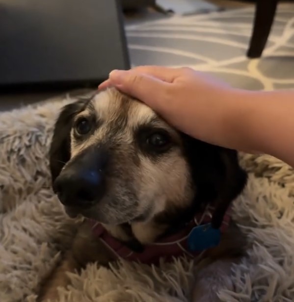
<svg viewBox="0 0 294 302"><path fill-rule="evenodd" d="M231 102L235 148L273 155L294 166L294 90L236 91Z"/></svg>

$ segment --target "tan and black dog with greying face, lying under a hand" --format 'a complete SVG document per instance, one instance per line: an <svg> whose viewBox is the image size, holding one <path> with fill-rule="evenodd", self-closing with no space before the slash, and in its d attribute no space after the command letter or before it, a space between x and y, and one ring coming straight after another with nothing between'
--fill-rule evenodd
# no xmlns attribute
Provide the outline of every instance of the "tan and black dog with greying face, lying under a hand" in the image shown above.
<svg viewBox="0 0 294 302"><path fill-rule="evenodd" d="M144 103L107 88L62 109L50 169L66 213L84 221L40 301L56 298L57 286L68 284L65 273L88 262L107 266L125 253L131 261L155 263L156 243L179 234L186 244L181 252L200 255L191 301L217 302L221 288L232 288L232 264L246 251L246 238L226 220L247 181L237 151L194 139ZM179 255L168 251L160 256Z"/></svg>

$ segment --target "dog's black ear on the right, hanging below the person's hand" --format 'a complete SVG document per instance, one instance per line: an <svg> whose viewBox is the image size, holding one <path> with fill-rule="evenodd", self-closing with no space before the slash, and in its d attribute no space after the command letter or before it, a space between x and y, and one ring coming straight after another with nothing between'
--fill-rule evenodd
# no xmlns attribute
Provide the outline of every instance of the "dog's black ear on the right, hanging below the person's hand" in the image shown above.
<svg viewBox="0 0 294 302"><path fill-rule="evenodd" d="M238 154L218 146L181 134L184 152L191 169L195 185L195 203L214 205L212 227L219 228L224 215L241 194L247 174L239 165Z"/></svg>

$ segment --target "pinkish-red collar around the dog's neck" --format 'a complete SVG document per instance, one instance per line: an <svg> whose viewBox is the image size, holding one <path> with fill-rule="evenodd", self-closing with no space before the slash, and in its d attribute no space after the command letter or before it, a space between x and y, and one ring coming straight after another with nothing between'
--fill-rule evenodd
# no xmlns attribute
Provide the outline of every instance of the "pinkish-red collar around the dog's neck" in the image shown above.
<svg viewBox="0 0 294 302"><path fill-rule="evenodd" d="M208 206L202 214L196 215L186 227L173 235L164 237L155 243L145 246L144 251L141 253L130 250L121 241L112 237L100 223L94 221L90 221L90 223L95 236L106 245L109 251L113 252L115 257L145 264L159 264L160 258L164 258L169 261L173 257L186 256L189 258L195 258L196 256L202 255L204 251L192 252L189 249L188 237L195 227L207 225L211 222L211 212L213 210L214 208L212 206ZM226 231L230 218L229 209L226 212L220 227L221 233Z"/></svg>

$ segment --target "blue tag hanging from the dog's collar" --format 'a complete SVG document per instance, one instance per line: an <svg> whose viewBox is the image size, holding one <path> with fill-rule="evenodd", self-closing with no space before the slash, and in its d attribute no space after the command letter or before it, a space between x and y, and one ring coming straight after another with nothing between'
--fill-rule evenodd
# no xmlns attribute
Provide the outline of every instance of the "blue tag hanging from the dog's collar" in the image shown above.
<svg viewBox="0 0 294 302"><path fill-rule="evenodd" d="M213 228L211 224L193 227L187 240L190 251L202 252L218 246L220 242L220 229Z"/></svg>

